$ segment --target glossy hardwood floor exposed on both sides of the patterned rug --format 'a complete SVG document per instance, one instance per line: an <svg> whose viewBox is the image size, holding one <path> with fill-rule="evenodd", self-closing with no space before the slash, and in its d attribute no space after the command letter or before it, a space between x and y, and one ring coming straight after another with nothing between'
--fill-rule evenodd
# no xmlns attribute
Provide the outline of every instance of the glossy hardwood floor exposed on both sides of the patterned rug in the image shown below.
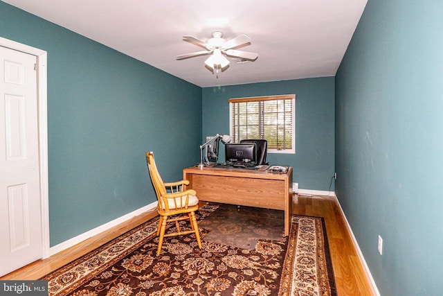
<svg viewBox="0 0 443 296"><path fill-rule="evenodd" d="M341 210L333 197L329 196L297 196L293 198L293 213L325 218L329 249L332 256L332 265L337 286L338 296L372 296L368 279L363 265L347 231ZM0 277L0 279L39 279L52 270L60 268L73 259L90 252L107 241L111 241L129 229L156 216L156 212L147 212L132 218L123 225L118 225L93 238L64 250L48 259L39 260L15 272Z"/></svg>

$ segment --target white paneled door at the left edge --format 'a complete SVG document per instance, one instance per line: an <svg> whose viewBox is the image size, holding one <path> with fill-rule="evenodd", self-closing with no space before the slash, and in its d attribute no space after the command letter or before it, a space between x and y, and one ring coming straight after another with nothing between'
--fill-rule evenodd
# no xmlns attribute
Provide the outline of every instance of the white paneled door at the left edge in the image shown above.
<svg viewBox="0 0 443 296"><path fill-rule="evenodd" d="M43 255L36 62L0 46L0 276Z"/></svg>

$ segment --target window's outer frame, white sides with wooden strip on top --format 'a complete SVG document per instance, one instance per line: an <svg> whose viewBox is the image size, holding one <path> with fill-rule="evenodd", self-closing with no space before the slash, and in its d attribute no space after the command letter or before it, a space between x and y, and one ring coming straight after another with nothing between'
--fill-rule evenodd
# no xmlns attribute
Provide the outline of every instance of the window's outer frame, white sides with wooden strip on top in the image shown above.
<svg viewBox="0 0 443 296"><path fill-rule="evenodd" d="M257 102L257 101L276 101L276 100L291 100L291 149L274 149L268 148L268 153L277 154L296 154L296 95L295 94L285 94L278 96L252 96L246 98L230 98L229 103L229 133L233 134L233 107L234 103L246 103L246 102Z"/></svg>

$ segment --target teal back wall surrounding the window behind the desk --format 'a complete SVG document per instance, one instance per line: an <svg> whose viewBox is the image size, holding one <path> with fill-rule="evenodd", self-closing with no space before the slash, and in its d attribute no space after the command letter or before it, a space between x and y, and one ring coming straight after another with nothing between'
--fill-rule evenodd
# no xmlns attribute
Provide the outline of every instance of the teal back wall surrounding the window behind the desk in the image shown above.
<svg viewBox="0 0 443 296"><path fill-rule="evenodd" d="M206 87L202 139L229 133L229 98L278 94L296 94L296 154L269 153L268 162L293 166L293 182L300 189L329 191L335 155L334 77Z"/></svg>

